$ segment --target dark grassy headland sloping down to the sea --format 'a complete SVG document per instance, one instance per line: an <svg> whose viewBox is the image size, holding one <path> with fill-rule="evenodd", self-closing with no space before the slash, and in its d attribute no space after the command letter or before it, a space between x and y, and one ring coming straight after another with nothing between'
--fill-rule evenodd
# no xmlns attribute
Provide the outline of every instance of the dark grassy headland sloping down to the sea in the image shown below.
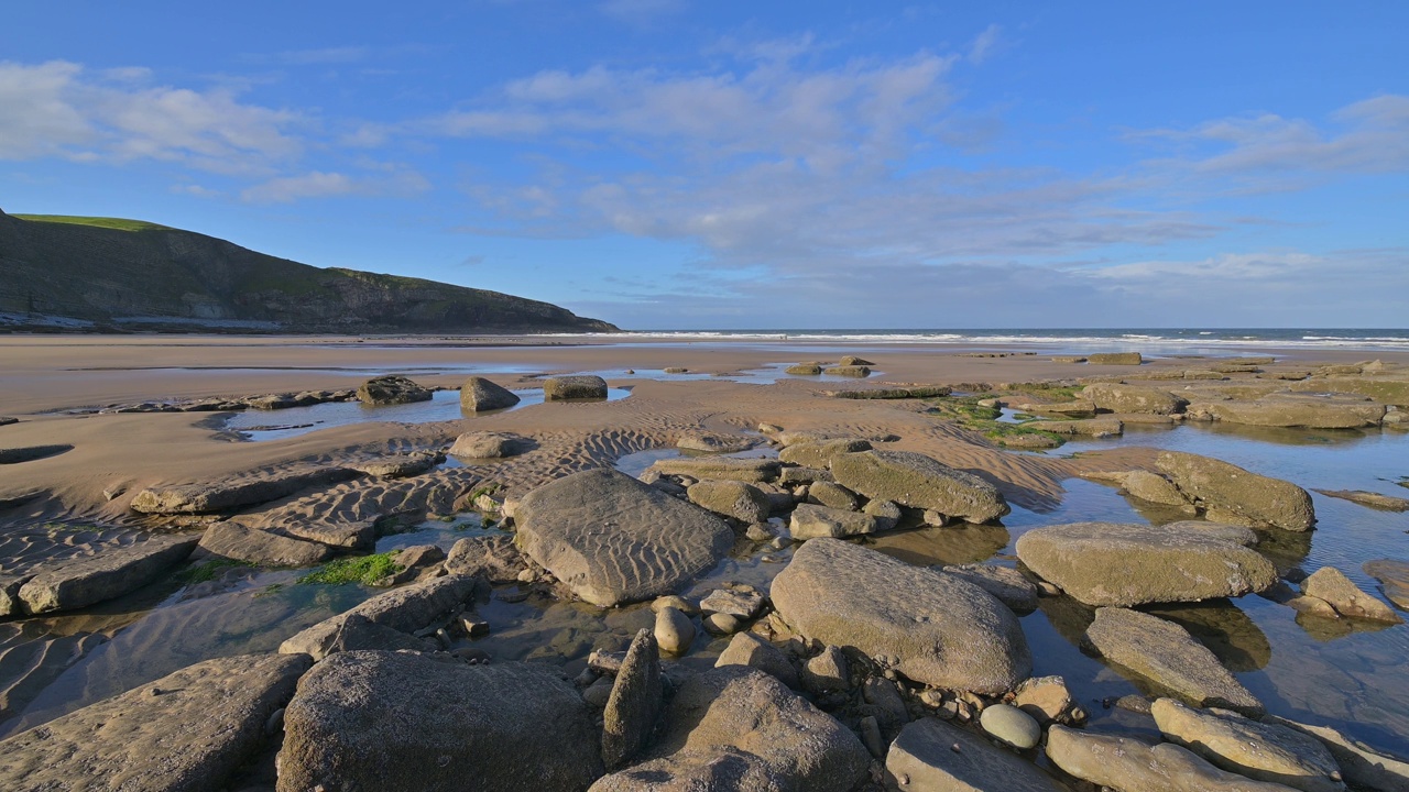
<svg viewBox="0 0 1409 792"><path fill-rule="evenodd" d="M318 269L132 221L0 211L0 314L116 327L283 333L606 333L550 303L418 278Z"/></svg>

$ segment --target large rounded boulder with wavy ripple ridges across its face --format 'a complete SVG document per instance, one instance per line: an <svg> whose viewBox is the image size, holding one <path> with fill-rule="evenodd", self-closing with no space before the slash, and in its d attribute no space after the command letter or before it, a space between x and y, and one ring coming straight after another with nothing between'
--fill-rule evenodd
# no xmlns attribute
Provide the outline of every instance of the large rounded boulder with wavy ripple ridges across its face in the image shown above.
<svg viewBox="0 0 1409 792"><path fill-rule="evenodd" d="M600 607L669 593L734 545L714 514L603 469L534 489L514 523L524 554Z"/></svg>

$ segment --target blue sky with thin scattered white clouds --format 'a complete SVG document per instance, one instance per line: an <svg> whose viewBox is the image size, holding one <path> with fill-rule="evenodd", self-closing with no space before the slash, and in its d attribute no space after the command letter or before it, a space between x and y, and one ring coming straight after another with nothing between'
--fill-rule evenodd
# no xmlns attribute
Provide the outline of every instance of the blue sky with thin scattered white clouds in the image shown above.
<svg viewBox="0 0 1409 792"><path fill-rule="evenodd" d="M1405 327L1409 4L10 4L0 209L628 328Z"/></svg>

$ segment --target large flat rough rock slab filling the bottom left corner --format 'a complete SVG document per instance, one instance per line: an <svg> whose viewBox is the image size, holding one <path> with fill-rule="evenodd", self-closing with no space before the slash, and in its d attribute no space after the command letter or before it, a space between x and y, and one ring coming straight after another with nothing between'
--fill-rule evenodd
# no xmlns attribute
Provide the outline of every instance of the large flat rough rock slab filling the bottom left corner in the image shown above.
<svg viewBox="0 0 1409 792"><path fill-rule="evenodd" d="M223 789L293 696L307 655L207 660L0 741L0 789Z"/></svg>

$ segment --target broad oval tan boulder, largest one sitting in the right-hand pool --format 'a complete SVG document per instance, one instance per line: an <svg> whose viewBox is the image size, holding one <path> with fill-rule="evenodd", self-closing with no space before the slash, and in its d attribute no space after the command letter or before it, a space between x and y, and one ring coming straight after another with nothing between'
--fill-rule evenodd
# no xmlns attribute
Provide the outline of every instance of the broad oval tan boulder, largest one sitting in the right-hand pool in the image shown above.
<svg viewBox="0 0 1409 792"><path fill-rule="evenodd" d="M1272 562L1215 533L1127 523L1071 523L1027 531L1017 557L1086 605L1198 602L1267 590Z"/></svg>

